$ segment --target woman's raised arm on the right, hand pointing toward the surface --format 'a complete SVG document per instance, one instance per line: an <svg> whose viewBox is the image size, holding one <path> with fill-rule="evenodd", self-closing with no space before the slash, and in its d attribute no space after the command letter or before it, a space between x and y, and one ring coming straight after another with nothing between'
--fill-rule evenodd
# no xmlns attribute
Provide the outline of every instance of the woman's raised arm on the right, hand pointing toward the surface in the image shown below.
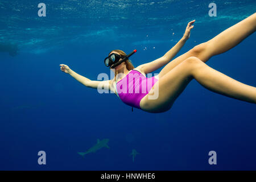
<svg viewBox="0 0 256 182"><path fill-rule="evenodd" d="M177 42L177 44L170 49L170 51L165 53L162 57L160 57L154 61L151 61L150 63L139 65L139 67L137 67L137 69L139 69L142 72L147 74L147 73L151 73L151 72L155 71L156 69L163 67L163 65L166 65L167 63L169 63L172 60L172 58L174 58L174 56L176 56L176 54L180 51L181 47L184 46L185 42L190 37L190 31L194 27L194 26L192 26L192 24L194 22L195 22L195 20L188 23L185 33L183 35L183 38L181 38L179 40L179 42Z"/></svg>

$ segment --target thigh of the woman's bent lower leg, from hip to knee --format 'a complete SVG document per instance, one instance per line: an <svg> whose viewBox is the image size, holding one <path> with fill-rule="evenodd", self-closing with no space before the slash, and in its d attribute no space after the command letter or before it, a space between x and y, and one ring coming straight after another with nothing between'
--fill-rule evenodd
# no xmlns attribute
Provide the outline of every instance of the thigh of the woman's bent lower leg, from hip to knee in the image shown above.
<svg viewBox="0 0 256 182"><path fill-rule="evenodd" d="M161 113L169 110L176 98L192 80L191 63L195 59L195 57L189 57L189 59L159 77L150 92L142 98L141 109L152 113Z"/></svg>

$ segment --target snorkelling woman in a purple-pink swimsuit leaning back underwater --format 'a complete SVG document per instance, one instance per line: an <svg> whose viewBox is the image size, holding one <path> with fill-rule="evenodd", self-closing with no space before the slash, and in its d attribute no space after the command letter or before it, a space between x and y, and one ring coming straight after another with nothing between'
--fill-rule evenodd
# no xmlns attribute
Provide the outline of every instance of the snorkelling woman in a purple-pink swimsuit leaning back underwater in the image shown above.
<svg viewBox="0 0 256 182"><path fill-rule="evenodd" d="M126 60L115 67L115 77L113 80L92 81L73 72L64 64L60 64L60 69L90 88L98 88L98 86L103 85L104 88L109 88L109 90L115 92L125 104L150 113L162 113L169 110L176 98L183 92L193 78L213 92L255 104L256 88L254 86L245 85L233 80L232 78L208 67L205 63L210 57L228 51L242 42L247 36L253 34L256 29L256 13L221 32L221 34L218 34L208 42L193 47L190 51L170 62L189 38L194 22L195 20L188 23L183 38L181 38L181 40L164 56L150 63L139 65L135 69L133 69L134 67L130 61ZM121 58L126 56L121 50L114 50L110 52L109 55L112 55L112 53L115 53L116 56L119 55ZM119 61L122 60L121 58ZM166 66L160 71L158 76L151 78L143 76L163 67L163 65ZM131 79L129 81L129 76L134 74L137 74L137 77L143 77L146 81L150 80L152 84L149 84L149 86L147 85L147 88L150 89L148 89L146 93L119 92L120 90L122 91L123 86L130 84L130 81L133 82ZM133 82L135 89L139 86L145 88L146 86L143 84L145 84L143 81ZM128 87L126 88L128 90ZM141 91L141 89L139 90ZM158 92L158 97L154 99L150 98L155 92Z"/></svg>

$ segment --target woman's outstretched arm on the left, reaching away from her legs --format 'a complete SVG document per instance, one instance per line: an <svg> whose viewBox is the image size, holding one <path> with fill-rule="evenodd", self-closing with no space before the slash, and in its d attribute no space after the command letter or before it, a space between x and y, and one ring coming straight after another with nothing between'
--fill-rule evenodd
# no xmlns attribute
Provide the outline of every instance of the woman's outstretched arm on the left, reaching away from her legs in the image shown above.
<svg viewBox="0 0 256 182"><path fill-rule="evenodd" d="M110 89L109 88L110 80L106 80L106 81L90 80L90 79L88 79L84 76L81 76L81 75L77 74L72 69L70 69L68 67L68 65L65 65L65 64L60 64L60 69L61 69L61 71L65 72L65 73L68 73L73 78L75 78L77 81L79 81L81 84L83 84L83 85L85 85L89 88L97 89L98 86L101 86L102 89Z"/></svg>

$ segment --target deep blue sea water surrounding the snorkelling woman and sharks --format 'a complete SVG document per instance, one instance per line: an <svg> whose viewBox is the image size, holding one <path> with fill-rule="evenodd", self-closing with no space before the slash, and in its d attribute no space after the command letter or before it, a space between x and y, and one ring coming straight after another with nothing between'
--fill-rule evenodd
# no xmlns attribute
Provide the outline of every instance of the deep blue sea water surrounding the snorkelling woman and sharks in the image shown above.
<svg viewBox="0 0 256 182"><path fill-rule="evenodd" d="M255 13L256 1L42 2L46 17L38 16L39 1L0 1L0 42L19 48L16 56L0 52L0 169L256 169L254 104L193 80L166 113L131 112L114 94L86 88L59 68L97 80L110 75L103 60L113 49L137 49L130 57L137 67L163 56L196 19L179 56ZM210 2L216 17L208 15ZM207 64L255 86L255 42L254 33ZM77 154L104 138L109 149ZM134 163L133 149L140 153ZM46 165L38 164L39 151ZM217 165L209 165L209 151L217 152Z"/></svg>

